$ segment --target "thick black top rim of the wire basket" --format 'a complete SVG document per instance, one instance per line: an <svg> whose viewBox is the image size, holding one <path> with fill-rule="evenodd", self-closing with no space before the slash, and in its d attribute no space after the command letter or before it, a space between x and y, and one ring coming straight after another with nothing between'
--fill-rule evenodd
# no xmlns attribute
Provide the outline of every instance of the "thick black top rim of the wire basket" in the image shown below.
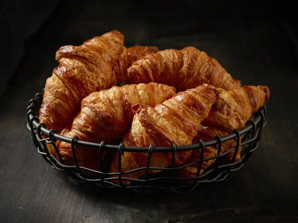
<svg viewBox="0 0 298 223"><path fill-rule="evenodd" d="M26 118L27 118L27 128L29 130L31 130L30 125L32 125L32 127L35 127L36 129L39 128L40 132L49 136L49 134L51 135L51 138L53 140L59 140L62 142L66 142L69 144L74 144L75 146L81 146L81 147L87 147L87 148L94 148L94 149L100 149L102 148L102 144L104 144L104 147L106 149L110 149L110 150L119 150L119 148L121 147L121 151L123 152L149 152L149 147L128 147L128 146L124 146L124 145L111 145L111 144L105 144L104 141L102 141L101 143L92 143L92 142L88 142L88 141L82 141L82 140L73 140L74 138L69 138L69 137L65 137L62 135L59 135L58 133L56 133L56 130L52 129L49 130L45 127L43 127L43 125L45 126L44 123L39 123L38 121L38 115L39 115L39 107L41 106L42 103L42 99L43 99L43 92L40 93L36 93L34 95L34 98L29 100L29 106L26 109ZM262 106L261 108L259 108L259 110L252 115L252 117L249 119L249 121L246 122L246 125L243 129L237 130L239 135L243 135L248 133L252 128L254 128L254 126L257 126L262 119L264 118L264 116L266 116L266 106ZM265 123L264 123L265 125ZM232 132L229 135L226 136L219 136L218 139L214 139L214 140L210 140L210 141L203 141L204 142L204 147L210 147L210 146L215 146L219 143L224 143L226 141L235 139L237 137L236 133ZM220 142L219 142L220 141ZM196 144L191 144L191 145L183 145L183 146L176 146L175 144L173 145L176 147L176 151L187 151L187 150L193 150L193 149L198 149L201 148L202 145L200 142L196 143ZM172 152L173 151L173 146L169 146L169 147L151 147L152 152Z"/></svg>

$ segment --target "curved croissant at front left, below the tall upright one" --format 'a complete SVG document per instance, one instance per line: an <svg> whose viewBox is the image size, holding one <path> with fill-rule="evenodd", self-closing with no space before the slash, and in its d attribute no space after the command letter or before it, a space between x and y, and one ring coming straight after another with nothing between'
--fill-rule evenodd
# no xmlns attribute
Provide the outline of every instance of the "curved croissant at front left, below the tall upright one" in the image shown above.
<svg viewBox="0 0 298 223"><path fill-rule="evenodd" d="M65 134L72 138L100 143L112 143L122 139L129 131L134 110L132 106L143 103L154 107L176 94L175 88L158 83L126 84L121 87L93 92L81 102L81 110L75 117L71 130ZM68 165L74 164L71 145L60 144L60 153ZM97 169L99 163L98 149L79 147L76 157L81 166Z"/></svg>

